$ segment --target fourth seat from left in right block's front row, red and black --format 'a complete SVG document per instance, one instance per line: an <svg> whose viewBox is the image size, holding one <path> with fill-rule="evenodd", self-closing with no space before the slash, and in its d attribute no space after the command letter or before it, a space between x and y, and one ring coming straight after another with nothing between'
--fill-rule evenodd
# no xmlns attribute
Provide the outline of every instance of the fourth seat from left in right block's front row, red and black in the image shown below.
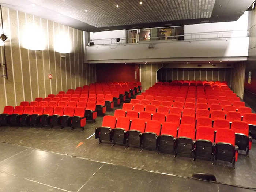
<svg viewBox="0 0 256 192"><path fill-rule="evenodd" d="M143 134L142 150L144 148L158 151L158 136L160 135L161 123L159 121L147 121Z"/></svg>

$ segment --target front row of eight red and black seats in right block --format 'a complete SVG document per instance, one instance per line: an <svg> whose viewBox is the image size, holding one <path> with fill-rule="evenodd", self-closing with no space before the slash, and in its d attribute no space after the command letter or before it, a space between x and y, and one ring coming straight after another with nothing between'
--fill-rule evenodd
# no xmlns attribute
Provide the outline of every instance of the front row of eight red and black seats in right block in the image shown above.
<svg viewBox="0 0 256 192"><path fill-rule="evenodd" d="M185 154L190 155L193 160L197 157L212 160L212 163L214 159L230 161L234 168L238 157L235 132L239 126L236 124L240 123L234 122L231 129L219 128L214 143L215 133L212 127L199 126L195 129L193 125L181 124L177 129L174 123L164 122L161 126L159 121L148 120L146 123L140 118L133 119L130 126L128 117L116 119L114 116L105 116L102 126L95 129L95 138L99 139L99 143L106 140L113 145L121 143L127 147L141 147L142 150L148 148L157 150L158 153L174 153L174 157Z"/></svg>

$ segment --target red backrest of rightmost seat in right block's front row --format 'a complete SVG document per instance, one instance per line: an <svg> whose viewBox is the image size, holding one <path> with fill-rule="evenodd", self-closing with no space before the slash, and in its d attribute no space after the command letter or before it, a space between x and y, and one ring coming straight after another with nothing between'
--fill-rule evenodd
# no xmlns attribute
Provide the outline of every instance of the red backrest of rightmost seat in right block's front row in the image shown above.
<svg viewBox="0 0 256 192"><path fill-rule="evenodd" d="M232 129L219 128L215 137L216 144L219 142L235 145L235 132Z"/></svg>

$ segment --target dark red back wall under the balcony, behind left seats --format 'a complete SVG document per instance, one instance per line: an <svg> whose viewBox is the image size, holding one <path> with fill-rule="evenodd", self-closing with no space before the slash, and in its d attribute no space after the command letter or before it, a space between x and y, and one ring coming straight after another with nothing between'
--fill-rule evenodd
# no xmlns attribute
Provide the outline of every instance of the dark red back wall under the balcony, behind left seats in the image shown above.
<svg viewBox="0 0 256 192"><path fill-rule="evenodd" d="M135 79L135 64L97 64L97 82L132 82Z"/></svg>

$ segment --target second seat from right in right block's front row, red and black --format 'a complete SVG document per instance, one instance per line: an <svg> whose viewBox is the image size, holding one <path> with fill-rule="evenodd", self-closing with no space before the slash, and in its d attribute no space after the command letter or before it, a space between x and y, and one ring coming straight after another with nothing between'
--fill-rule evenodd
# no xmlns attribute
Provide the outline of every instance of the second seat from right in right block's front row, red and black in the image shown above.
<svg viewBox="0 0 256 192"><path fill-rule="evenodd" d="M214 164L214 144L214 128L196 128L195 157L210 160Z"/></svg>

